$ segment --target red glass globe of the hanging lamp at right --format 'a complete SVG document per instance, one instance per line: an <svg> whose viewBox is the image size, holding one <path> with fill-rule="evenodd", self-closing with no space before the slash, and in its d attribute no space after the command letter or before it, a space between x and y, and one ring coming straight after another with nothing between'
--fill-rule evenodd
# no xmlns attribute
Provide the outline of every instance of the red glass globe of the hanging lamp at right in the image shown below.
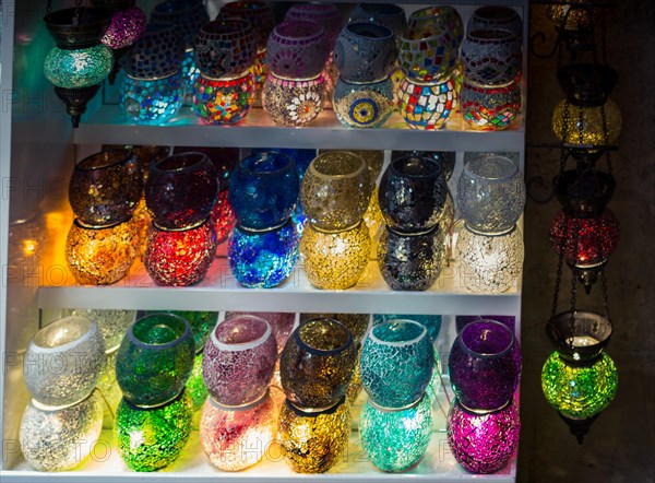
<svg viewBox="0 0 655 483"><path fill-rule="evenodd" d="M574 217L562 210L550 225L552 247L558 254L563 251L567 263L577 268L606 262L617 249L619 236L619 221L609 208L592 217Z"/></svg>

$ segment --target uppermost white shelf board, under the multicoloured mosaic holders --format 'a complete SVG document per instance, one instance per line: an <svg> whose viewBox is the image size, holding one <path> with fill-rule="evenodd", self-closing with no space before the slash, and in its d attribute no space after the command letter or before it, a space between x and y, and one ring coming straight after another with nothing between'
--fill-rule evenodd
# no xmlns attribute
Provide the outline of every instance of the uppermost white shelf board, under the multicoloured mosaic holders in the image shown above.
<svg viewBox="0 0 655 483"><path fill-rule="evenodd" d="M448 129L409 129L394 113L379 129L353 129L342 126L334 113L323 110L309 127L275 126L269 115L253 108L237 126L202 125L190 107L164 126L128 122L118 106L106 105L84 115L73 132L75 144L154 144L224 148L348 148L422 151L522 151L525 130L521 118L505 131L485 132L467 129L462 115L453 113Z"/></svg>

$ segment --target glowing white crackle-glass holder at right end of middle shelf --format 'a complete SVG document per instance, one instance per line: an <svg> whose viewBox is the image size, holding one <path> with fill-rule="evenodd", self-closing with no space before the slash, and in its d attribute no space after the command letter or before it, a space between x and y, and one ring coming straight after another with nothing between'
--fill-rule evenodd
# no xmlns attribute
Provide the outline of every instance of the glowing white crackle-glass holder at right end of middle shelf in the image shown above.
<svg viewBox="0 0 655 483"><path fill-rule="evenodd" d="M516 286L523 268L521 231L481 235L462 229L455 246L460 283L476 293L501 293Z"/></svg>

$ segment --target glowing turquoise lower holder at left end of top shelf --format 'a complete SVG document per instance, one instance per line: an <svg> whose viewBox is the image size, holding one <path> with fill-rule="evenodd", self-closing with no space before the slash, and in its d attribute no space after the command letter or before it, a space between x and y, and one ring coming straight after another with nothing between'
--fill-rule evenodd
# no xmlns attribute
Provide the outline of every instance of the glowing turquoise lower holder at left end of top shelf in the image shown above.
<svg viewBox="0 0 655 483"><path fill-rule="evenodd" d="M184 86L179 73L163 79L126 75L120 84L119 105L123 114L140 125L160 125L182 107Z"/></svg>

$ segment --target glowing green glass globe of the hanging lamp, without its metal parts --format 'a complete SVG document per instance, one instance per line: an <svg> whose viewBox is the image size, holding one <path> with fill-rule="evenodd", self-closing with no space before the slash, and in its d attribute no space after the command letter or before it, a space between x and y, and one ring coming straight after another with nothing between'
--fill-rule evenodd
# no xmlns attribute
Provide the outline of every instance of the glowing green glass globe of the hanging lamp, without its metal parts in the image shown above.
<svg viewBox="0 0 655 483"><path fill-rule="evenodd" d="M591 365L575 366L555 351L541 369L541 389L548 403L577 420L607 408L617 393L618 379L617 367L607 354Z"/></svg>

